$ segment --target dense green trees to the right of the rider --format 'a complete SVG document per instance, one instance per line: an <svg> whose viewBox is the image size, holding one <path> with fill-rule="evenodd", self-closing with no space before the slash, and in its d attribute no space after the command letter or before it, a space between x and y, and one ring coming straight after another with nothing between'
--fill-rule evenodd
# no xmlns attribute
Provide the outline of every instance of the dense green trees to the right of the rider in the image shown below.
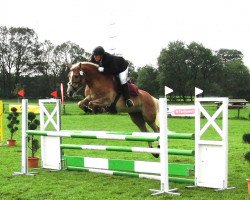
<svg viewBox="0 0 250 200"><path fill-rule="evenodd" d="M212 51L197 42L170 42L160 52L158 68L145 66L135 77L141 88L163 94L164 85L183 101L194 96L194 87L206 96L250 99L250 72L243 54L235 49Z"/></svg>

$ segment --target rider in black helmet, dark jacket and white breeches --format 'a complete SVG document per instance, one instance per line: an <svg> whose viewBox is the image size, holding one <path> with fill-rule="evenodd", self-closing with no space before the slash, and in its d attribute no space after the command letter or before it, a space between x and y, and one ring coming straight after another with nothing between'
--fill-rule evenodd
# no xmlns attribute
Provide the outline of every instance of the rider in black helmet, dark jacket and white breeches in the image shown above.
<svg viewBox="0 0 250 200"><path fill-rule="evenodd" d="M90 61L99 65L99 72L112 74L119 78L121 92L125 98L126 106L132 107L134 102L130 99L127 83L129 65L128 61L126 61L123 57L114 56L105 52L104 48L101 46L98 46L93 50Z"/></svg>

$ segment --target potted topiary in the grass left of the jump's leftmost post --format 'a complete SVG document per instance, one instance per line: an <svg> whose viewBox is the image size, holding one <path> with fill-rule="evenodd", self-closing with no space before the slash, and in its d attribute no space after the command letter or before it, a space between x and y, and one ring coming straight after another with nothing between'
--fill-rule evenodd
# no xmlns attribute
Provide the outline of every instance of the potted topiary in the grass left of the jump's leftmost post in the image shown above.
<svg viewBox="0 0 250 200"><path fill-rule="evenodd" d="M7 140L8 146L15 146L16 140L13 139L14 133L18 130L17 125L19 124L19 120L17 119L19 114L17 113L17 108L12 107L11 113L7 116L9 123L7 125L8 129L10 130L10 139Z"/></svg>

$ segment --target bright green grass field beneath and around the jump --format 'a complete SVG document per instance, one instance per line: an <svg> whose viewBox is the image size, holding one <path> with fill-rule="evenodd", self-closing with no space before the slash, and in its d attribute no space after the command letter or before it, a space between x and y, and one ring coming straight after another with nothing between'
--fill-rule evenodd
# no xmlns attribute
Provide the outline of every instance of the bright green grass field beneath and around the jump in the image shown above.
<svg viewBox="0 0 250 200"><path fill-rule="evenodd" d="M213 112L215 107L209 106L208 109ZM246 183L246 179L250 178L250 165L243 157L250 147L242 142L242 135L250 132L250 108L242 109L240 113L241 118L237 119L237 110L229 110L229 186L235 186L234 190L215 192L206 188L186 189L185 184L170 183L171 188L179 188L181 196L151 196L149 189L159 189L159 181L65 170L51 172L43 169L32 170L38 173L33 177L13 176L13 172L20 171L21 133L18 131L15 135L17 139L15 147L5 145L0 147L0 199L250 199ZM4 117L5 139L8 139L6 116L7 114ZM219 120L218 124L220 123ZM169 129L175 132L194 132L193 118L169 118L168 124ZM66 114L62 115L62 129L138 131L127 114L85 115L75 103L66 106ZM82 139L63 139L63 142L147 146L146 143L138 142L90 139L84 142ZM169 147L192 149L194 142L170 140ZM67 150L64 154L158 161L150 154L141 153ZM171 162L194 162L192 157L184 156L170 156L169 160Z"/></svg>

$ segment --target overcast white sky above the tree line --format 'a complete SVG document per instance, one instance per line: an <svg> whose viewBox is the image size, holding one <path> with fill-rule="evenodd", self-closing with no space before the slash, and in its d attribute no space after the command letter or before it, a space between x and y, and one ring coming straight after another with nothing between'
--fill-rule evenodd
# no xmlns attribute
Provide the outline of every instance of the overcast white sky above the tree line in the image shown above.
<svg viewBox="0 0 250 200"><path fill-rule="evenodd" d="M0 0L0 25L88 52L102 45L138 67L176 40L237 49L250 67L250 0Z"/></svg>

